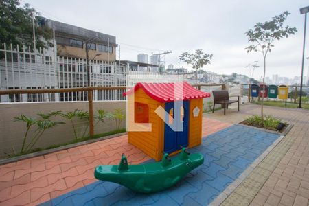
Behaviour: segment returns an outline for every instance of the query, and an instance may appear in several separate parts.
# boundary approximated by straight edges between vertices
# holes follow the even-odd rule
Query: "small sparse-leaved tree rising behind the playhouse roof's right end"
[[[192,54],[183,52],[181,56],[179,56],[179,59],[186,62],[188,65],[192,65],[192,68],[195,69],[195,84],[197,84],[197,71],[203,68],[204,65],[210,64],[212,54],[204,54],[202,49],[196,49],[195,53]]]

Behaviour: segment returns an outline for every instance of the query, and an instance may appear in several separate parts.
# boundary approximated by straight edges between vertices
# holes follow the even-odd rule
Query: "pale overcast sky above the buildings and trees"
[[[290,12],[287,25],[296,27],[294,36],[275,42],[266,59],[266,76],[279,74],[293,78],[301,74],[301,55],[304,36],[304,15],[299,8],[308,6],[306,0],[117,0],[117,1],[41,1],[30,3],[42,16],[89,30],[116,36],[121,46],[122,60],[137,61],[137,54],[172,50],[165,56],[165,65],[178,65],[182,52],[203,49],[214,54],[206,71],[243,73],[244,67],[258,60],[260,68],[254,77],[262,76],[262,54],[244,50],[249,45],[244,35],[255,23],[270,21],[284,11]],[[307,21],[306,57],[309,56],[309,19]],[[117,50],[118,51],[118,50]],[[181,66],[190,65],[181,62]],[[305,60],[307,76],[309,60]]]

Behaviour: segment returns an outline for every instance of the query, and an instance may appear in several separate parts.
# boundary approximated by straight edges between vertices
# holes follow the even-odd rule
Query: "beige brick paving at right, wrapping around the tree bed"
[[[239,113],[231,109],[226,116],[216,111],[207,117],[233,124],[248,115],[259,115],[260,111],[259,105],[247,104]],[[223,205],[309,206],[309,111],[264,106],[264,113],[294,126]]]

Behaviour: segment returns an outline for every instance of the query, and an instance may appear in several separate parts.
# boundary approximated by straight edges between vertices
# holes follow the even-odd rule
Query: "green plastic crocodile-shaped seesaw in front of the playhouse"
[[[141,165],[128,165],[122,154],[119,165],[98,165],[94,175],[96,179],[118,183],[135,192],[150,193],[171,187],[203,162],[203,155],[190,154],[187,148],[182,148],[178,158],[170,159],[164,154],[160,162]]]

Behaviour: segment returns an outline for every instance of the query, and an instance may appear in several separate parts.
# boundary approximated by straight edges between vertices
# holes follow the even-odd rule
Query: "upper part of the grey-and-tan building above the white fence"
[[[54,29],[57,55],[86,59],[86,44],[89,60],[115,62],[116,37],[82,27],[39,17],[41,27]]]

